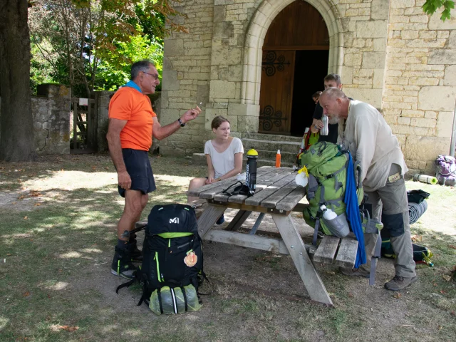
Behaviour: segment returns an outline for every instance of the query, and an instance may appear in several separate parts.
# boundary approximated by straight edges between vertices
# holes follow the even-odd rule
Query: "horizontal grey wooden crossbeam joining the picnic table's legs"
[[[241,247],[261,249],[262,251],[289,254],[288,249],[286,249],[286,246],[281,239],[273,239],[270,237],[259,237],[258,235],[212,229],[204,236],[204,239],[222,242],[224,244],[234,244]]]

